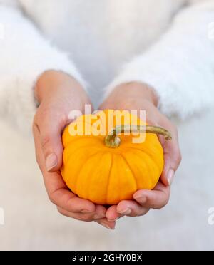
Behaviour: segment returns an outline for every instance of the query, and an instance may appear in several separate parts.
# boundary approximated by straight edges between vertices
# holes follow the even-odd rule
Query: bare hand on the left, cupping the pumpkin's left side
[[[91,105],[88,95],[66,73],[46,71],[36,83],[35,96],[40,104],[33,125],[36,160],[51,202],[67,217],[96,221],[113,229],[115,222],[106,219],[106,208],[76,197],[66,187],[60,173],[63,159],[61,133],[72,121],[68,119],[71,110],[84,113],[85,105]]]

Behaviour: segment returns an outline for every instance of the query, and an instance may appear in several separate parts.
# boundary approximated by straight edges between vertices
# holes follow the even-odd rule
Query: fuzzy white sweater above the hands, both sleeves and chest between
[[[28,128],[34,83],[55,69],[88,83],[96,105],[139,81],[187,118],[214,101],[213,21],[213,0],[0,0],[0,115]]]

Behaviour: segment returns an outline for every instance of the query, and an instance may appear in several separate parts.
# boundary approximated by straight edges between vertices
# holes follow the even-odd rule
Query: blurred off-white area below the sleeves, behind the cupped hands
[[[0,123],[0,250],[214,250],[214,108],[179,125],[183,162],[170,204],[115,231],[62,217],[49,202],[34,142]]]

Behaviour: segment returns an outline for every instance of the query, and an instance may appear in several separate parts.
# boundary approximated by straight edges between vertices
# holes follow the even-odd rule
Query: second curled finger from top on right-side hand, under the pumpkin
[[[147,214],[149,209],[141,207],[140,204],[134,201],[122,201],[117,206],[118,214],[128,217],[140,217]]]

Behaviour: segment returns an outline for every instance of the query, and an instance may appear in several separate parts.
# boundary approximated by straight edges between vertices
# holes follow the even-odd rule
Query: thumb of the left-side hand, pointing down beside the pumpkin
[[[42,113],[41,118],[35,122],[39,130],[39,139],[42,153],[46,161],[46,170],[55,172],[62,165],[63,145],[61,131],[66,125],[66,119],[57,113]]]

